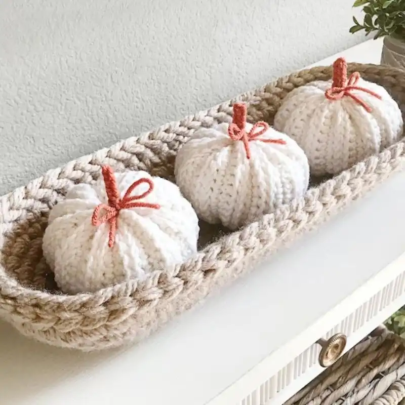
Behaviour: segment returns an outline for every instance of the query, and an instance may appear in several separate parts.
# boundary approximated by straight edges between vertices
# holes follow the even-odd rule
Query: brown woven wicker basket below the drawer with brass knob
[[[396,405],[403,398],[405,341],[380,329],[284,405]]]

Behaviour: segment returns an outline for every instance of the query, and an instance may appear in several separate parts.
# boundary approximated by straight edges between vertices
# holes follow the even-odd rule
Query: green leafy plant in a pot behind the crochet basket
[[[381,64],[405,69],[405,0],[356,0],[353,7],[362,7],[364,19],[353,17],[350,32],[384,37]]]

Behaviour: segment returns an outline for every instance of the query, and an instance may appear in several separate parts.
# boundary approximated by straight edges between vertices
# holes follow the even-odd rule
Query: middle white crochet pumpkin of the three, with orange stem
[[[301,197],[308,160],[295,141],[260,122],[246,123],[234,104],[233,123],[201,128],[179,150],[176,182],[197,214],[235,229]]]

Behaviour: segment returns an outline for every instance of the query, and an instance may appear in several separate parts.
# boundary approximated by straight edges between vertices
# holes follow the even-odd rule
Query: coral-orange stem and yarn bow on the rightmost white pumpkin
[[[340,100],[344,96],[351,97],[356,103],[360,104],[366,109],[367,112],[371,112],[371,107],[367,105],[363,100],[352,93],[353,90],[362,91],[372,95],[373,97],[381,100],[381,96],[369,89],[356,86],[360,79],[360,73],[354,72],[349,78],[347,78],[347,63],[344,58],[338,58],[333,64],[333,84],[332,88],[325,92],[325,96],[329,100]]]

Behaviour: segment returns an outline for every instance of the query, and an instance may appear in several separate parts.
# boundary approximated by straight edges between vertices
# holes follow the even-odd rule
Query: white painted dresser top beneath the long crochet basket
[[[378,63],[381,46],[370,41],[339,56]],[[0,403],[233,405],[405,268],[405,257],[394,262],[405,252],[404,204],[401,172],[203,306],[126,349],[56,349],[0,323]]]

